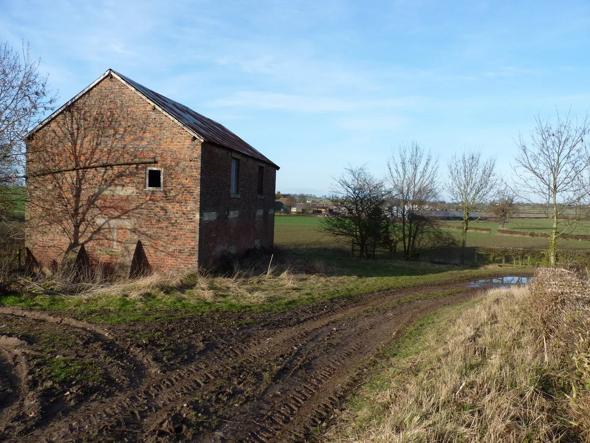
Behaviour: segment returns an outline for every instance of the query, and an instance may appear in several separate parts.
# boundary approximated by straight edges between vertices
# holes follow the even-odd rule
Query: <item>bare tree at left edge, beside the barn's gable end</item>
[[[17,51],[0,43],[0,219],[6,219],[21,194],[14,187],[22,184],[24,136],[53,110],[56,99],[47,76],[39,73],[39,62],[31,57],[28,45]]]

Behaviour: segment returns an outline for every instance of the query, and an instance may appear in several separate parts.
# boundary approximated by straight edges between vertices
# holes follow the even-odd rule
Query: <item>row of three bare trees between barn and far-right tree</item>
[[[464,209],[463,249],[466,245],[470,213],[496,183],[493,159],[481,161],[478,152],[465,151],[453,159],[453,168],[463,168],[456,181],[448,184],[451,195]],[[467,169],[470,170],[467,170]],[[322,220],[320,229],[344,237],[360,258],[385,248],[412,259],[420,250],[454,246],[455,240],[430,217],[440,198],[438,159],[417,142],[402,144],[386,164],[385,177],[376,177],[365,166],[345,168],[336,179],[330,200],[337,214]]]

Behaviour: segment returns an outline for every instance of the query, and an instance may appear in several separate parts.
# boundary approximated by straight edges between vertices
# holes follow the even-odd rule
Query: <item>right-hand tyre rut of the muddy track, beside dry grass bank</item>
[[[363,321],[345,333],[328,324],[323,334],[316,334],[306,344],[314,347],[313,356],[304,360],[304,366],[289,370],[285,377],[278,377],[262,395],[240,411],[232,411],[225,425],[216,435],[205,435],[198,441],[293,441],[304,439],[314,427],[320,425],[329,412],[339,403],[360,370],[359,363],[375,355],[383,345],[408,327],[422,314],[444,304],[463,301],[475,291],[435,301],[414,301],[398,308],[401,312],[383,318]],[[411,312],[412,311],[412,312]],[[375,317],[381,317],[376,315]],[[240,422],[240,418],[244,421]],[[249,420],[249,423],[247,422]],[[239,425],[239,426],[236,426]]]

